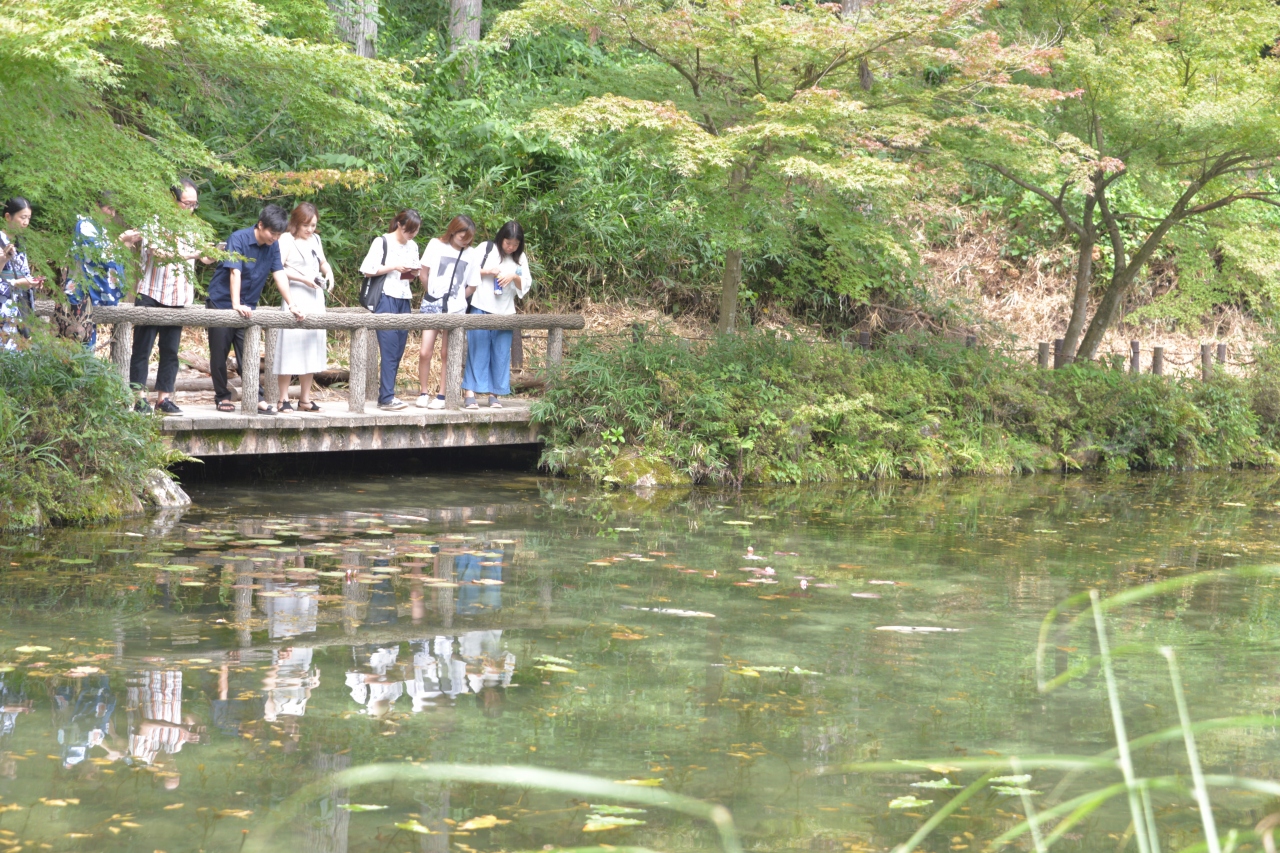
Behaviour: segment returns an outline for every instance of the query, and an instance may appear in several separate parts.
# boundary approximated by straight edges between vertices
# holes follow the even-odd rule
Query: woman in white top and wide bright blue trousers
[[[480,284],[471,296],[472,314],[515,314],[516,297],[524,298],[534,279],[525,257],[525,229],[515,219],[480,246]],[[479,409],[476,394],[489,394],[489,407],[502,409],[498,397],[511,393],[511,329],[467,330],[467,365],[462,374],[466,407]]]

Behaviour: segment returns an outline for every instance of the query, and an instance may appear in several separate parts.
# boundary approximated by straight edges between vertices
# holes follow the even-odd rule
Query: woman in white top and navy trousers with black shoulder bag
[[[392,220],[390,229],[374,241],[365,255],[360,272],[369,277],[387,275],[383,283],[383,297],[374,314],[408,314],[412,309],[410,284],[417,278],[417,243],[413,237],[422,227],[422,218],[416,210],[402,210]],[[399,360],[408,342],[407,329],[388,329],[378,333],[378,350],[381,353],[381,375],[378,386],[378,407],[389,411],[407,409],[396,396],[396,374]]]

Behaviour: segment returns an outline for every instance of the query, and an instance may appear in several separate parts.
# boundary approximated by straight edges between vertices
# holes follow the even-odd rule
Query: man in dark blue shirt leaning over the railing
[[[276,205],[262,207],[257,224],[232,233],[227,241],[227,251],[236,255],[218,265],[214,278],[209,282],[209,300],[205,307],[230,309],[246,319],[253,315],[262,288],[269,278],[282,293],[289,292],[289,279],[284,275],[280,263],[280,247],[276,241],[289,227],[289,215]],[[294,316],[300,316],[293,309]],[[232,392],[227,387],[227,356],[236,350],[236,364],[244,370],[256,370],[257,365],[246,365],[242,350],[244,329],[210,327],[209,329],[209,373],[214,380],[214,405],[218,411],[236,411],[232,405]],[[274,415],[275,410],[262,402],[262,387],[257,389],[260,415]]]

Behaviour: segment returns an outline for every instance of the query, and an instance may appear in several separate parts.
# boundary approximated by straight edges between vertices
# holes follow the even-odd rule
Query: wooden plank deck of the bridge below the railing
[[[317,453],[424,447],[486,447],[532,444],[530,401],[506,398],[502,409],[484,403],[476,411],[430,410],[410,405],[403,411],[355,414],[347,401],[329,402],[315,414],[246,415],[220,412],[212,405],[182,402],[182,414],[164,418],[161,434],[191,456]]]

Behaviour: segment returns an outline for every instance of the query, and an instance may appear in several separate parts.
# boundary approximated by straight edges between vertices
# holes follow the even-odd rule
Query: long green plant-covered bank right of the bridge
[[[618,484],[803,483],[1280,462],[1263,356],[1204,383],[891,338],[584,343],[535,406],[550,470]]]

